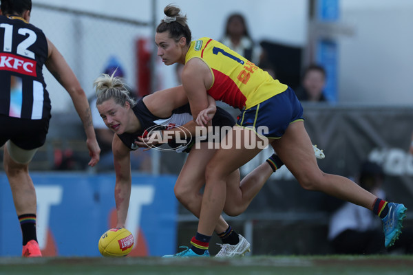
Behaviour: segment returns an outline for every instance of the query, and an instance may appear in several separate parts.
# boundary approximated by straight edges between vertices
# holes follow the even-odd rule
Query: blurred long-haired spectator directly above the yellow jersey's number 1
[[[225,34],[222,37],[222,44],[230,47],[231,50],[244,56],[248,61],[254,64],[260,62],[262,53],[261,46],[253,41],[249,35],[246,22],[242,14],[231,14],[225,26]]]

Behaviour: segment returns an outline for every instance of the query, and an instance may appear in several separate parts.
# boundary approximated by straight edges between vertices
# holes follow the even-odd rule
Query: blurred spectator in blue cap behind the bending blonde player
[[[123,78],[125,74],[120,66],[117,58],[112,56],[109,58],[107,66],[105,68],[104,74],[109,74],[109,76],[118,76]],[[127,87],[129,94],[133,97],[134,92]],[[96,131],[96,139],[100,146],[100,161],[96,165],[98,171],[114,170],[114,155],[112,153],[112,140],[114,138],[114,132],[107,128],[105,122],[100,117],[99,111],[96,108],[96,95],[94,94],[90,101],[90,109],[92,111],[93,125]],[[150,164],[150,153],[149,151],[136,150],[132,151],[131,154],[131,169],[149,172],[151,170]]]

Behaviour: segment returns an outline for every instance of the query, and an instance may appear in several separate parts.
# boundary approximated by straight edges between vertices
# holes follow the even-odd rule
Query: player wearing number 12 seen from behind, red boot
[[[87,148],[99,161],[89,102],[60,52],[39,28],[30,24],[31,0],[1,0],[0,6],[0,147],[4,170],[23,235],[25,257],[39,257],[36,236],[36,192],[28,166],[45,143],[51,103],[43,79],[43,65],[72,97],[83,122]]]

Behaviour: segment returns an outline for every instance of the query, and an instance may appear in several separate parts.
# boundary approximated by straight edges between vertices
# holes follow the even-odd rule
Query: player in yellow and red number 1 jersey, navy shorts
[[[164,12],[166,17],[156,28],[158,56],[165,65],[184,64],[182,85],[194,120],[209,123],[208,94],[242,111],[224,141],[233,146],[219,148],[207,164],[198,232],[191,248],[169,256],[209,256],[209,241],[226,199],[226,177],[260,153],[262,142],[273,146],[304,189],[350,201],[381,217],[385,247],[392,245],[407,209],[377,198],[346,177],[319,169],[295,92],[213,39],[191,41],[187,17],[175,5],[167,5]]]

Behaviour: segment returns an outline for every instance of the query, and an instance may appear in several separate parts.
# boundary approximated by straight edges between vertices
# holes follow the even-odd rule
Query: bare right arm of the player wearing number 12
[[[96,135],[92,123],[92,113],[90,111],[89,102],[83,91],[78,79],[67,65],[65,58],[59,50],[54,47],[53,43],[47,39],[48,57],[45,65],[49,72],[56,78],[57,81],[66,89],[72,98],[74,107],[79,117],[82,120],[83,128],[87,136],[87,148],[91,157],[89,166],[95,166],[99,161],[100,148],[96,140]]]

